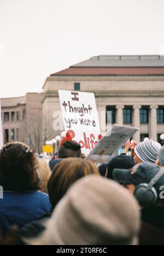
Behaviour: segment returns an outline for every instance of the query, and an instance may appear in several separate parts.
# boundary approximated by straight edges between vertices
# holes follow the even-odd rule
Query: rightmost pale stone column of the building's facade
[[[149,138],[157,141],[157,105],[150,106],[150,134]]]

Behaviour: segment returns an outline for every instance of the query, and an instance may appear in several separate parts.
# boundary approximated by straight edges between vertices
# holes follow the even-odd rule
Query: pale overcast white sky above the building
[[[0,97],[101,54],[164,54],[163,0],[0,0]]]

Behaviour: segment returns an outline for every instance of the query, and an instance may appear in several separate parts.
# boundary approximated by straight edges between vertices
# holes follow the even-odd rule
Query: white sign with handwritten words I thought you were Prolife
[[[65,131],[81,145],[92,150],[100,134],[95,95],[89,92],[58,90]]]

